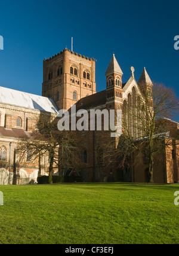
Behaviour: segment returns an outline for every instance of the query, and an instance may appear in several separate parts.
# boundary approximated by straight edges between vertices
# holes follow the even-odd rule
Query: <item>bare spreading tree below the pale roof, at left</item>
[[[49,183],[53,183],[54,169],[63,170],[78,167],[81,164],[78,148],[78,137],[75,132],[59,131],[58,118],[41,115],[37,120],[37,127],[30,137],[21,139],[18,154],[23,159],[30,150],[33,159],[39,158],[39,170],[41,169],[41,157],[49,156]]]

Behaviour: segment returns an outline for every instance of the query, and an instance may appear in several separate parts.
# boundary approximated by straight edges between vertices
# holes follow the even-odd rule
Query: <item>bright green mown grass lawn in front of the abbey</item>
[[[178,243],[178,184],[0,186],[0,243]]]

